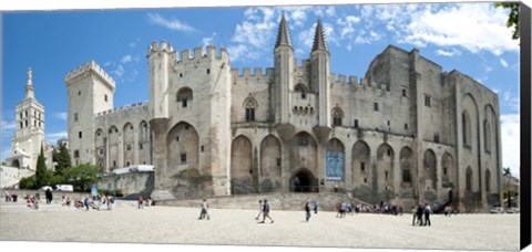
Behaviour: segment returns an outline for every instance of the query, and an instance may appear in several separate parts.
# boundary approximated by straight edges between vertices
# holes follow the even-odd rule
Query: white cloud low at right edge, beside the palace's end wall
[[[519,177],[520,169],[520,117],[519,114],[501,116],[502,166],[510,167]]]

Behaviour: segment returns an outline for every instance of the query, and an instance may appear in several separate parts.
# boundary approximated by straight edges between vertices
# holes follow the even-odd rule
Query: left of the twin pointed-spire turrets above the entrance
[[[277,123],[289,123],[289,91],[294,87],[294,49],[290,34],[286,24],[285,13],[280,17],[279,31],[275,43],[275,120]]]

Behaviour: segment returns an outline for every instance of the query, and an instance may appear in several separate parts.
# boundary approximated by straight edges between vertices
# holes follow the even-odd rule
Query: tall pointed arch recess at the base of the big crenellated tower
[[[166,177],[200,168],[197,130],[186,122],[175,124],[166,135]]]

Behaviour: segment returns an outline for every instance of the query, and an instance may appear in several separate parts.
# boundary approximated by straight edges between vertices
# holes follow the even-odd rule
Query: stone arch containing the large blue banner
[[[327,141],[325,150],[326,159],[326,177],[328,179],[344,180],[345,179],[345,164],[346,164],[346,148],[338,138],[332,138]]]

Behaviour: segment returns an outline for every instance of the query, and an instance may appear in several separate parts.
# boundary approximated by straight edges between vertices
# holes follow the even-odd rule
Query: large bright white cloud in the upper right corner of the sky
[[[519,51],[519,41],[511,39],[505,27],[508,14],[489,3],[427,8],[409,15],[411,20],[399,41],[402,43],[461,46],[472,53],[487,51],[495,55]]]

